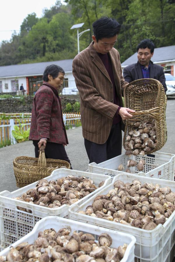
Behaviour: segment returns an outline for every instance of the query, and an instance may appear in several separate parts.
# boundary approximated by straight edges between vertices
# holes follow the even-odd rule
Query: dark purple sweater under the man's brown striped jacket
[[[120,101],[119,101],[119,98],[118,98],[118,95],[117,95],[117,92],[116,92],[116,89],[115,89],[115,82],[114,82],[114,75],[113,75],[113,70],[112,70],[112,64],[111,64],[111,59],[109,57],[108,54],[101,54],[101,53],[97,53],[101,59],[101,61],[103,62],[107,72],[108,72],[108,75],[111,79],[111,82],[113,84],[113,103],[115,105],[120,105]],[[118,107],[117,111],[116,111],[116,114],[113,118],[113,124],[117,124],[121,121],[121,117],[120,115],[118,114],[119,110],[120,110],[120,106]]]

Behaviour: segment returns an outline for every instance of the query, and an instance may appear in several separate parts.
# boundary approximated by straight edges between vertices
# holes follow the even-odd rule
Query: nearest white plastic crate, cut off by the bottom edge
[[[39,231],[43,231],[45,229],[53,228],[56,231],[60,230],[61,228],[67,228],[68,226],[71,227],[71,233],[83,231],[84,233],[90,233],[95,236],[95,241],[98,240],[98,236],[101,233],[107,233],[112,238],[112,245],[111,247],[117,248],[120,245],[127,244],[127,248],[125,251],[125,255],[120,262],[134,262],[134,244],[136,239],[134,236],[131,236],[126,233],[121,233],[114,230],[108,230],[99,226],[93,225],[85,225],[81,222],[75,222],[69,219],[61,218],[61,217],[45,217],[38,221],[34,226],[34,229],[28,233],[26,236],[15,242],[12,246],[16,247],[17,245],[21,244],[22,242],[28,242],[29,244],[34,244],[34,241],[38,237]],[[6,256],[10,250],[10,247],[7,247],[2,252],[0,252],[0,256]]]

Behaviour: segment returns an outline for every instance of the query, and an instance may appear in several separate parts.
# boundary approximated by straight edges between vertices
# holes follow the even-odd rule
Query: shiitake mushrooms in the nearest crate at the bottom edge
[[[70,231],[70,227],[58,232],[55,229],[40,231],[33,245],[23,242],[11,247],[7,256],[0,256],[0,262],[118,262],[125,254],[127,245],[110,248],[112,238],[106,233],[99,235],[95,242],[92,234],[74,231],[70,236]]]

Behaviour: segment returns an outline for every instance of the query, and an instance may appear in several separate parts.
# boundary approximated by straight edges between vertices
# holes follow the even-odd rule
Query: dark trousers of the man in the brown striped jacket
[[[122,130],[121,123],[112,125],[111,132],[104,144],[96,144],[87,139],[85,148],[89,157],[89,163],[99,164],[122,153]]]

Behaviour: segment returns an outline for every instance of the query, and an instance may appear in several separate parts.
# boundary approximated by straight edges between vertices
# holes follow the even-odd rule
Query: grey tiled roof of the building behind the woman
[[[72,71],[73,59],[33,63],[33,64],[22,64],[22,65],[6,65],[0,66],[0,77],[10,76],[28,76],[28,75],[43,75],[43,72],[47,65],[55,64],[61,66],[65,72]]]

